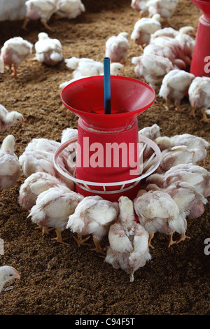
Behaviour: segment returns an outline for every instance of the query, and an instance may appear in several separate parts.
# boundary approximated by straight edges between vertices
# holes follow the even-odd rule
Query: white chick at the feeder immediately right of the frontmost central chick
[[[142,191],[142,193],[134,199],[134,209],[140,224],[149,233],[148,245],[153,248],[151,240],[156,232],[169,235],[168,246],[176,243],[173,241],[174,232],[178,232],[184,239],[187,227],[186,218],[181,215],[172,197],[160,190],[151,190],[146,193]]]

